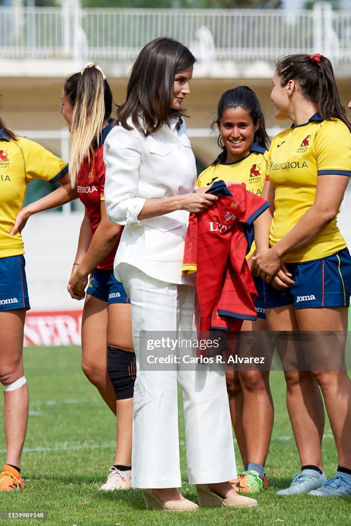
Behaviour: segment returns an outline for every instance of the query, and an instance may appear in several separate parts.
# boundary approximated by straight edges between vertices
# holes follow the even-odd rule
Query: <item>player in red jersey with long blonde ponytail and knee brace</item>
[[[116,458],[101,489],[129,489],[135,354],[129,298],[113,275],[122,228],[108,220],[104,197],[103,144],[113,126],[112,93],[102,70],[89,63],[82,73],[67,78],[61,99],[61,113],[72,135],[71,187],[76,189],[76,196],[85,206],[68,291],[77,300],[85,297],[83,371],[118,417]],[[33,213],[62,205],[67,200],[62,189],[56,190],[24,208],[17,217],[16,228],[21,229]]]

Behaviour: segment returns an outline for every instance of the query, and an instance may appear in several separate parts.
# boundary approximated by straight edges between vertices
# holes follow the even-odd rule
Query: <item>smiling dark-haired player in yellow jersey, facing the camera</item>
[[[268,136],[262,109],[255,93],[247,86],[228,89],[220,98],[217,118],[213,123],[219,130],[218,145],[222,148],[214,163],[200,174],[196,186],[209,187],[222,179],[245,183],[246,189],[262,195],[267,168]],[[227,183],[228,184],[228,183]],[[265,197],[265,196],[263,196]],[[254,275],[258,298],[255,301],[257,320],[244,320],[242,331],[267,331],[263,282],[257,276],[251,257],[247,255]],[[272,343],[267,333],[254,332],[250,347],[242,338],[240,355],[265,356],[266,365],[272,360]],[[269,367],[268,367],[269,368]],[[230,414],[242,456],[244,471],[232,481],[239,493],[254,493],[268,487],[265,461],[273,427],[273,400],[269,388],[269,371],[226,371]]]

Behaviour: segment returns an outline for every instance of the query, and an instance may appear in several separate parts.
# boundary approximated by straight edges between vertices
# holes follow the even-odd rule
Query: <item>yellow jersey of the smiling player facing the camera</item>
[[[246,190],[260,196],[266,178],[267,161],[268,151],[258,144],[253,144],[249,154],[243,159],[235,161],[235,163],[218,163],[206,168],[198,176],[196,186],[199,188],[210,187],[220,179],[223,181],[232,180],[237,183],[245,183]],[[255,250],[255,243],[253,243],[246,259],[250,258]]]

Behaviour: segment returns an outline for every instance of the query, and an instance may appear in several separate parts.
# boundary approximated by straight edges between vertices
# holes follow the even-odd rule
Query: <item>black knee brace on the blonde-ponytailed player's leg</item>
[[[136,378],[135,353],[109,345],[107,369],[115,388],[116,400],[133,398]]]

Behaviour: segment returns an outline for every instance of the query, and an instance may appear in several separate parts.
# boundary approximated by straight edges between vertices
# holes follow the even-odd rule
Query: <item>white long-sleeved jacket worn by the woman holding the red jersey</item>
[[[195,157],[183,123],[145,137],[138,130],[116,126],[104,145],[105,204],[110,221],[125,225],[117,249],[114,274],[128,263],[155,279],[194,284],[182,274],[184,239],[189,214],[185,210],[138,220],[146,199],[163,199],[192,192],[196,183]]]

